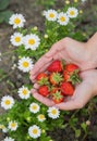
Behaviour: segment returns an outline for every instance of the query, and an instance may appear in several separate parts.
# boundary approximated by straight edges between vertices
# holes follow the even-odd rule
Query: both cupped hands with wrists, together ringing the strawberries
[[[35,84],[32,89],[33,97],[46,104],[53,106],[54,103],[48,98],[41,97],[38,92],[36,76],[44,72],[53,60],[65,60],[66,63],[74,63],[81,69],[83,81],[75,87],[74,94],[64,102],[56,104],[60,110],[82,108],[93,97],[97,94],[97,33],[87,42],[80,42],[69,37],[54,43],[51,49],[43,55],[31,70],[31,79]]]

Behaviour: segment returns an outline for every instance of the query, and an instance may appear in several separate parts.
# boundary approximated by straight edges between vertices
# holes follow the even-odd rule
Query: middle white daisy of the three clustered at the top
[[[69,16],[65,13],[63,13],[63,12],[59,13],[59,15],[58,15],[58,23],[60,25],[68,25]]]

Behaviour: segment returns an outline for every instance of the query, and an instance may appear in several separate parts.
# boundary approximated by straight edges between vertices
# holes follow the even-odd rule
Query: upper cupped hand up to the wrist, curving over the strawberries
[[[54,43],[43,55],[31,70],[31,79],[35,80],[38,73],[44,72],[53,60],[64,60],[66,63],[76,64],[82,70],[93,68],[90,64],[87,43],[73,40],[69,37]]]

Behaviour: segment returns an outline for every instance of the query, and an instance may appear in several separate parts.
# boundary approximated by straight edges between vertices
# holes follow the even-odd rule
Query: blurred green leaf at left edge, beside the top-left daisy
[[[5,22],[5,23],[9,23],[9,18],[11,17],[11,15],[13,14],[12,11],[4,11],[4,12],[0,12],[0,21],[1,23],[2,22]]]

